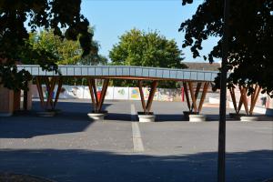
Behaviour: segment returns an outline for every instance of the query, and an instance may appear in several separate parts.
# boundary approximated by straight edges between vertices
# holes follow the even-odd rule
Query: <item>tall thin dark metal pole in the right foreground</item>
[[[220,108],[218,130],[218,170],[217,181],[226,180],[226,98],[227,98],[227,56],[228,56],[228,15],[229,0],[224,0],[224,25],[222,42],[222,66],[220,75]]]

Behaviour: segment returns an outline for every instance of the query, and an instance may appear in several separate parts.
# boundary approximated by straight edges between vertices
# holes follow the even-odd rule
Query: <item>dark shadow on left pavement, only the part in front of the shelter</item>
[[[92,124],[87,116],[86,119],[79,119],[76,116],[20,116],[20,119],[18,117],[0,119],[0,138],[30,138],[81,132]]]

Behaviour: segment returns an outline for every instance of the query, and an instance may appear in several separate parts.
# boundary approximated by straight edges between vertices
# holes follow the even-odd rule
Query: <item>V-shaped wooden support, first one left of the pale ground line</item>
[[[97,96],[96,92],[96,81],[93,78],[89,78],[88,80],[88,86],[89,86],[89,91],[90,91],[90,96],[92,100],[92,104],[94,107],[94,112],[101,112],[105,97],[106,97],[106,92],[107,92],[107,87],[109,83],[109,79],[104,80],[104,84],[101,90],[101,95],[100,98]]]

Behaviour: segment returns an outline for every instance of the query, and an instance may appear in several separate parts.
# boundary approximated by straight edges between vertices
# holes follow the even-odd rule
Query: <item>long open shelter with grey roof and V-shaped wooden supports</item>
[[[45,71],[42,67],[37,65],[20,65],[18,66],[18,69],[25,69],[34,77],[41,106],[45,109],[48,107],[54,109],[56,107],[64,79],[67,77],[86,78],[90,90],[91,101],[96,112],[102,111],[101,109],[104,104],[109,79],[129,79],[137,80],[144,112],[150,112],[151,110],[153,98],[157,90],[157,83],[159,81],[170,80],[183,82],[188,109],[194,109],[195,112],[199,113],[201,112],[206,98],[209,83],[214,81],[218,73],[217,71],[146,66],[58,66],[58,73]],[[96,79],[104,80],[100,97],[96,94]],[[147,103],[142,91],[143,80],[152,81]],[[43,95],[43,82],[45,83],[46,91],[48,93],[46,97]],[[193,86],[194,84],[197,86]],[[54,99],[53,91],[56,86],[57,91]],[[201,99],[197,105],[197,96],[202,86]]]

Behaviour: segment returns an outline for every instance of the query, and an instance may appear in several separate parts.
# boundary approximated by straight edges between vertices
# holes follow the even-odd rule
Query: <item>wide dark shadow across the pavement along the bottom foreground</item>
[[[217,181],[217,152],[185,156],[121,155],[102,151],[2,149],[0,172],[65,181]],[[272,150],[227,154],[227,181],[273,177]]]

